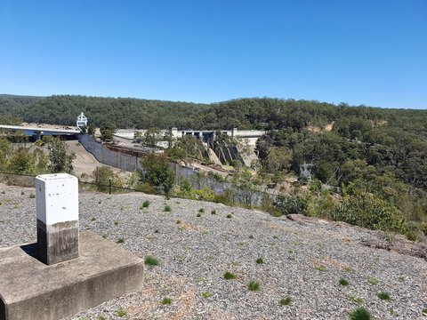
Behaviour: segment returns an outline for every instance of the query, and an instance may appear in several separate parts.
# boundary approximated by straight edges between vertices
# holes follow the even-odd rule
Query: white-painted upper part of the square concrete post
[[[78,180],[68,173],[36,176],[37,220],[46,226],[78,220]]]

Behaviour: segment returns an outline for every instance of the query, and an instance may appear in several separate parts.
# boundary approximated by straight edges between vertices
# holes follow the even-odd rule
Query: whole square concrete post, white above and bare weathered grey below
[[[37,245],[47,265],[78,258],[78,180],[67,173],[36,177]]]

